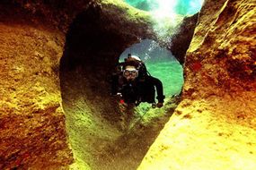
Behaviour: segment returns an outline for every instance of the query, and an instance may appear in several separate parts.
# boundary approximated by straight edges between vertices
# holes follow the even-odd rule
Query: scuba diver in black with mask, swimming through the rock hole
[[[128,54],[125,61],[117,65],[111,80],[111,94],[122,98],[124,103],[138,106],[141,102],[147,102],[153,108],[163,106],[163,84],[146,71],[146,65],[139,57]]]

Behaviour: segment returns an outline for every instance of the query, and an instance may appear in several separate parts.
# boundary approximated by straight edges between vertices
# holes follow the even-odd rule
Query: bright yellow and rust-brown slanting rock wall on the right
[[[254,169],[255,1],[207,0],[185,61],[183,100],[138,169]]]

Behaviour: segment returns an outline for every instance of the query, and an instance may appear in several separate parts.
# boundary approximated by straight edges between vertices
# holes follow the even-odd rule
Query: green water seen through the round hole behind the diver
[[[163,83],[166,97],[179,94],[183,85],[183,68],[171,51],[160,47],[154,40],[144,39],[128,47],[119,57],[123,62],[128,54],[137,55],[145,64],[147,71]]]

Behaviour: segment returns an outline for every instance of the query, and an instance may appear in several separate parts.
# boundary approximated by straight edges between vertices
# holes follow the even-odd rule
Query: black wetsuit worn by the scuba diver
[[[130,63],[121,63],[119,67],[126,65]],[[147,74],[145,64],[140,65],[138,77],[134,81],[127,81],[122,72],[112,74],[111,93],[121,93],[126,103],[155,103],[155,89],[158,102],[163,103],[163,84],[159,79]]]

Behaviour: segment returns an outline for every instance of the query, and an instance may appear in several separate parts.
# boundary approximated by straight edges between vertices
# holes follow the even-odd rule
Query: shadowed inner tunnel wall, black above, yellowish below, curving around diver
[[[78,14],[66,34],[60,61],[73,166],[84,169],[135,169],[178,101],[168,98],[161,109],[140,107],[121,112],[117,99],[110,97],[110,71],[119,63],[119,55],[140,37],[124,36],[123,30],[108,28],[110,22],[97,7]]]

